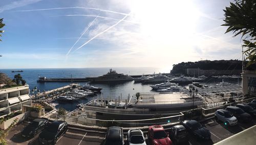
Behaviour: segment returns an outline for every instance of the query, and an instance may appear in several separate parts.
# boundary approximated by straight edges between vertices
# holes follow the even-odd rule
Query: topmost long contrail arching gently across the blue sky
[[[98,8],[86,8],[86,7],[64,7],[64,8],[49,8],[49,9],[34,9],[34,10],[20,10],[20,11],[13,11],[13,12],[33,12],[33,11],[47,11],[47,10],[58,10],[58,9],[90,9],[90,10],[98,10],[98,11],[110,12],[110,13],[121,14],[121,15],[128,15],[128,14],[125,14],[125,13],[119,13],[119,12],[110,11],[110,10],[101,10],[101,9],[98,9]]]

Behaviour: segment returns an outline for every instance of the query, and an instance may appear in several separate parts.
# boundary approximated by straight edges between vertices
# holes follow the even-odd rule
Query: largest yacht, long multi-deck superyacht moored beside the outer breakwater
[[[104,74],[99,77],[88,77],[89,81],[96,82],[96,81],[127,81],[133,80],[133,77],[129,75],[124,75],[122,73],[117,73],[115,70],[110,69],[107,74]]]

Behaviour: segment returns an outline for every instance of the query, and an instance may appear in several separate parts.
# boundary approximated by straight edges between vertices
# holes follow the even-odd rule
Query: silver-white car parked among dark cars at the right
[[[220,120],[225,123],[225,125],[237,125],[238,120],[236,117],[231,115],[229,111],[224,110],[224,109],[218,109],[215,112],[215,119]]]

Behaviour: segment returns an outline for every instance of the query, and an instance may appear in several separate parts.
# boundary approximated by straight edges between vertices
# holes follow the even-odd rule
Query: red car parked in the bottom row
[[[152,141],[152,145],[172,145],[167,133],[161,125],[153,125],[148,128],[148,138]]]

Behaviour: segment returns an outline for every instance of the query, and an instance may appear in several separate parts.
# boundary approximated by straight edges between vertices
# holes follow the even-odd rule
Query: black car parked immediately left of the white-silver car
[[[105,145],[123,145],[123,129],[121,127],[109,127],[106,131]]]

